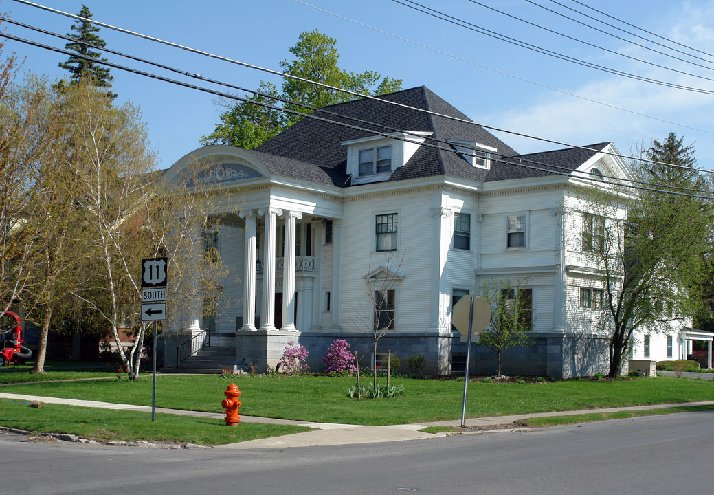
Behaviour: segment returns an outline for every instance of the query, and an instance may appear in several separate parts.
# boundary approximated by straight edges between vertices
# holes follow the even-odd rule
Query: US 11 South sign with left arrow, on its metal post
[[[166,320],[166,258],[141,260],[141,321],[154,321],[154,355],[151,357],[151,422],[156,421],[156,321]],[[151,287],[151,289],[146,289]]]

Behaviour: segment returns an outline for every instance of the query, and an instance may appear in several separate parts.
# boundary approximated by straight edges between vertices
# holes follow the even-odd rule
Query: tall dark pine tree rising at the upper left
[[[82,9],[78,15],[84,17],[84,19],[91,19],[92,17],[91,11],[84,4],[82,4]],[[72,24],[72,29],[77,34],[67,33],[67,36],[76,41],[70,42],[64,47],[68,50],[76,51],[78,55],[70,56],[66,62],[61,62],[59,66],[69,71],[71,84],[76,84],[80,79],[86,77],[93,81],[94,86],[111,89],[111,81],[114,77],[109,74],[109,67],[97,64],[93,60],[106,61],[106,59],[100,59],[101,52],[94,51],[89,46],[104,47],[106,45],[106,41],[96,35],[99,28],[91,24],[89,20],[83,20],[78,21],[77,24]],[[62,83],[59,86],[61,87]],[[106,96],[115,99],[116,93],[107,91]]]

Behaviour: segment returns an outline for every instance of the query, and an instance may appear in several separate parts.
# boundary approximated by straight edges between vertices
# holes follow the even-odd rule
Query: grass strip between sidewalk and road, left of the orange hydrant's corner
[[[116,411],[91,407],[44,404],[39,409],[26,401],[0,399],[0,424],[34,433],[69,433],[85,439],[145,440],[171,444],[221,445],[308,431],[304,426],[238,423],[226,426],[221,419]]]

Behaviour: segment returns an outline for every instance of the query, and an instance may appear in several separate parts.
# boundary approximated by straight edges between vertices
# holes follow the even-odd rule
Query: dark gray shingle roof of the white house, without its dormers
[[[498,156],[518,156],[508,144],[493,136],[483,127],[472,124],[471,119],[468,119],[461,111],[448,104],[426,86],[386,94],[379,98],[385,101],[359,99],[326,106],[315,112],[316,116],[368,129],[367,131],[306,118],[273,139],[266,141],[258,149],[249,152],[261,159],[274,174],[340,187],[344,186],[349,179],[346,174],[347,150],[346,146],[342,146],[340,143],[373,136],[374,134],[370,131],[385,134],[395,131],[431,132],[433,134],[426,142],[441,147],[451,147],[444,141],[476,142],[496,148]],[[414,109],[392,105],[388,101],[411,106]],[[426,114],[415,109],[433,111],[463,119],[463,121]],[[593,146],[601,148],[603,145]],[[583,153],[583,150],[580,149],[565,149],[520,155],[519,157],[523,160],[545,162],[550,166],[565,166],[572,170],[592,154],[592,151]],[[488,171],[471,166],[466,159],[453,151],[421,146],[404,166],[399,167],[392,174],[389,180],[399,181],[448,175],[458,179],[481,182],[546,174],[548,172],[523,169],[496,160],[493,161],[491,170]]]

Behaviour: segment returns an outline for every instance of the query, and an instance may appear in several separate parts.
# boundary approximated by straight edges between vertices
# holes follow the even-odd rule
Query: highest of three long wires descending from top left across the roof
[[[461,118],[456,117],[456,116],[451,116],[451,115],[446,115],[446,114],[440,114],[440,113],[438,113],[438,112],[431,111],[431,110],[418,109],[418,108],[416,108],[416,107],[409,106],[409,105],[406,105],[406,104],[401,104],[401,103],[398,103],[398,102],[396,102],[396,101],[388,101],[388,100],[385,100],[385,99],[381,99],[381,98],[378,98],[377,96],[372,96],[372,95],[370,95],[370,94],[361,94],[361,93],[358,93],[357,91],[351,91],[351,90],[348,90],[348,89],[342,89],[342,88],[338,88],[337,86],[330,86],[329,84],[324,84],[324,83],[317,82],[317,81],[311,81],[310,79],[305,79],[305,78],[302,78],[302,77],[299,77],[299,76],[293,76],[292,74],[286,74],[286,73],[281,72],[281,71],[275,71],[275,70],[273,70],[273,69],[266,69],[266,68],[261,67],[261,66],[256,66],[256,65],[253,65],[253,64],[248,64],[248,63],[246,63],[246,62],[238,61],[238,60],[235,60],[235,59],[228,59],[228,58],[225,57],[225,56],[220,56],[220,55],[216,55],[216,54],[211,54],[211,53],[208,53],[208,52],[206,52],[206,51],[201,51],[201,50],[198,50],[198,49],[191,48],[191,47],[189,47],[189,46],[183,46],[183,45],[181,45],[181,44],[176,44],[176,43],[173,43],[173,42],[171,42],[171,41],[166,41],[166,40],[163,40],[163,39],[155,38],[154,36],[149,36],[149,35],[146,35],[146,34],[136,33],[136,32],[134,32],[134,31],[130,31],[129,29],[124,29],[124,28],[121,28],[121,27],[118,27],[118,26],[112,26],[111,24],[106,24],[106,23],[101,22],[101,21],[95,21],[94,19],[86,19],[85,17],[77,16],[77,15],[75,15],[75,14],[69,14],[68,12],[60,11],[60,10],[58,10],[58,9],[53,9],[53,8],[51,8],[51,7],[47,7],[47,6],[44,6],[44,5],[35,4],[35,3],[31,2],[31,1],[28,1],[28,0],[14,0],[14,1],[16,1],[16,2],[18,2],[18,3],[20,3],[20,4],[25,4],[25,5],[29,5],[29,6],[36,7],[36,8],[38,8],[38,9],[46,10],[46,11],[52,12],[52,13],[54,13],[54,14],[60,14],[60,15],[62,15],[62,16],[66,16],[66,17],[69,17],[69,18],[71,18],[71,19],[76,19],[76,20],[79,20],[79,21],[86,21],[86,22],[89,22],[89,23],[91,23],[91,24],[96,24],[97,26],[106,27],[106,28],[108,28],[108,29],[112,29],[112,30],[114,30],[114,31],[119,31],[119,32],[124,33],[124,34],[130,34],[130,35],[132,35],[132,36],[138,36],[139,38],[147,39],[147,40],[149,40],[149,41],[155,41],[155,42],[157,42],[157,43],[165,44],[165,45],[171,46],[171,47],[173,47],[173,48],[178,48],[178,49],[182,49],[182,50],[185,50],[185,51],[189,51],[189,52],[191,52],[191,53],[200,54],[200,55],[203,55],[203,56],[208,56],[208,57],[210,57],[210,58],[218,59],[218,60],[221,60],[221,61],[227,61],[227,62],[229,62],[229,63],[231,63],[231,64],[236,64],[236,65],[238,65],[238,66],[247,67],[248,69],[255,69],[255,70],[258,70],[258,71],[266,72],[266,73],[268,73],[268,74],[273,74],[273,75],[277,75],[277,76],[282,76],[282,77],[286,77],[286,78],[289,78],[289,79],[295,79],[295,80],[297,80],[297,81],[303,81],[303,82],[307,82],[307,83],[310,83],[310,84],[316,84],[317,86],[321,86],[321,87],[326,88],[326,89],[331,89],[331,90],[333,90],[333,91],[340,91],[340,92],[345,93],[345,94],[350,94],[350,95],[352,95],[352,96],[357,96],[358,98],[372,99],[372,100],[382,101],[382,102],[385,102],[385,101],[386,101],[388,104],[391,104],[391,105],[393,105],[393,106],[398,106],[398,107],[404,108],[404,109],[411,109],[411,110],[415,110],[415,111],[420,111],[420,112],[423,112],[423,113],[428,114],[428,115],[431,115],[431,116],[443,117],[444,119],[449,119],[449,120],[453,120],[453,121],[463,122],[463,123],[466,123],[466,124],[478,125],[478,126],[483,127],[483,129],[491,129],[492,131],[500,131],[500,132],[504,132],[504,133],[506,133],[506,134],[511,134],[511,135],[513,135],[513,136],[519,136],[519,137],[523,137],[523,138],[527,138],[527,139],[535,139],[535,140],[543,141],[543,142],[550,143],[550,144],[557,144],[558,146],[566,146],[566,147],[568,147],[568,148],[584,149],[584,150],[587,150],[587,151],[600,152],[600,153],[603,153],[603,154],[608,154],[608,155],[610,155],[610,156],[618,156],[618,157],[623,158],[623,159],[629,159],[629,160],[635,160],[635,161],[648,161],[648,162],[654,163],[654,164],[660,164],[660,165],[665,165],[665,166],[673,166],[673,167],[675,167],[675,168],[690,169],[690,170],[695,170],[695,171],[699,171],[699,172],[702,172],[702,173],[714,174],[714,171],[710,171],[710,170],[706,170],[706,169],[698,169],[698,168],[695,168],[695,167],[690,167],[690,166],[685,166],[685,165],[668,164],[668,163],[661,162],[661,161],[653,161],[653,160],[642,159],[641,157],[638,157],[638,156],[627,156],[627,155],[623,155],[623,154],[616,154],[616,153],[609,152],[609,151],[601,151],[601,150],[597,150],[597,149],[590,149],[590,148],[587,148],[587,147],[585,147],[585,146],[574,146],[574,145],[572,145],[572,144],[567,144],[567,143],[564,143],[564,142],[562,142],[562,141],[555,141],[555,140],[553,140],[553,139],[545,139],[545,138],[540,138],[540,137],[537,137],[537,136],[531,136],[531,135],[523,134],[523,133],[516,132],[516,131],[509,131],[509,130],[507,130],[507,129],[501,129],[501,128],[496,127],[496,126],[488,126],[487,124],[478,124],[478,123],[476,123],[476,122],[474,122],[474,121],[471,121],[471,120],[468,120],[468,119],[461,119]],[[71,54],[74,55],[74,52],[72,52]],[[92,59],[92,60],[93,60],[93,61],[96,61],[96,59]],[[198,74],[196,74],[196,75],[198,75]],[[251,103],[256,103],[256,102],[251,101]]]

